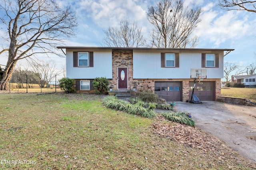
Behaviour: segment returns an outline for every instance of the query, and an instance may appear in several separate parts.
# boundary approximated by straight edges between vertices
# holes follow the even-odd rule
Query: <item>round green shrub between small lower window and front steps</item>
[[[92,85],[95,89],[95,92],[99,92],[100,94],[104,94],[108,91],[109,81],[106,77],[96,77],[93,80]]]

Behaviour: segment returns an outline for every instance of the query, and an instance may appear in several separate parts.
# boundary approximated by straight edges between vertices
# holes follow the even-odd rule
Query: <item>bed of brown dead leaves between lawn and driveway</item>
[[[226,146],[223,141],[211,136],[197,127],[190,127],[179,123],[163,123],[164,118],[159,116],[153,123],[151,131],[154,134],[166,137],[180,145],[196,149],[197,154],[211,158],[212,162],[221,162],[235,167],[234,162],[240,162],[241,157],[234,150]],[[248,163],[252,168],[256,164]]]

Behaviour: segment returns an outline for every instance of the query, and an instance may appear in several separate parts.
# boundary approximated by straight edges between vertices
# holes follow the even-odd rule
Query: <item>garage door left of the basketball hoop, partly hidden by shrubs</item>
[[[182,101],[181,82],[155,82],[155,94],[158,94],[166,102]]]

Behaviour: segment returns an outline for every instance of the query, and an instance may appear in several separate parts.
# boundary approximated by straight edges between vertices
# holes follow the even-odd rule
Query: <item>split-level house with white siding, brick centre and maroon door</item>
[[[77,92],[92,92],[92,81],[106,77],[113,90],[150,89],[166,101],[190,100],[192,69],[207,71],[196,83],[200,100],[216,100],[223,78],[224,51],[234,49],[166,49],[122,47],[58,47],[66,49],[66,76],[76,80]],[[197,81],[198,82],[198,81]],[[167,96],[165,96],[167,95]]]

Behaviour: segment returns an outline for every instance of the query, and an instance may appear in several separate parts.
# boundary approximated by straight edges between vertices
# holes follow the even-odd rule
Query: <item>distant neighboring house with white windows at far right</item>
[[[256,74],[231,76],[231,82],[243,83],[245,87],[256,87]]]

